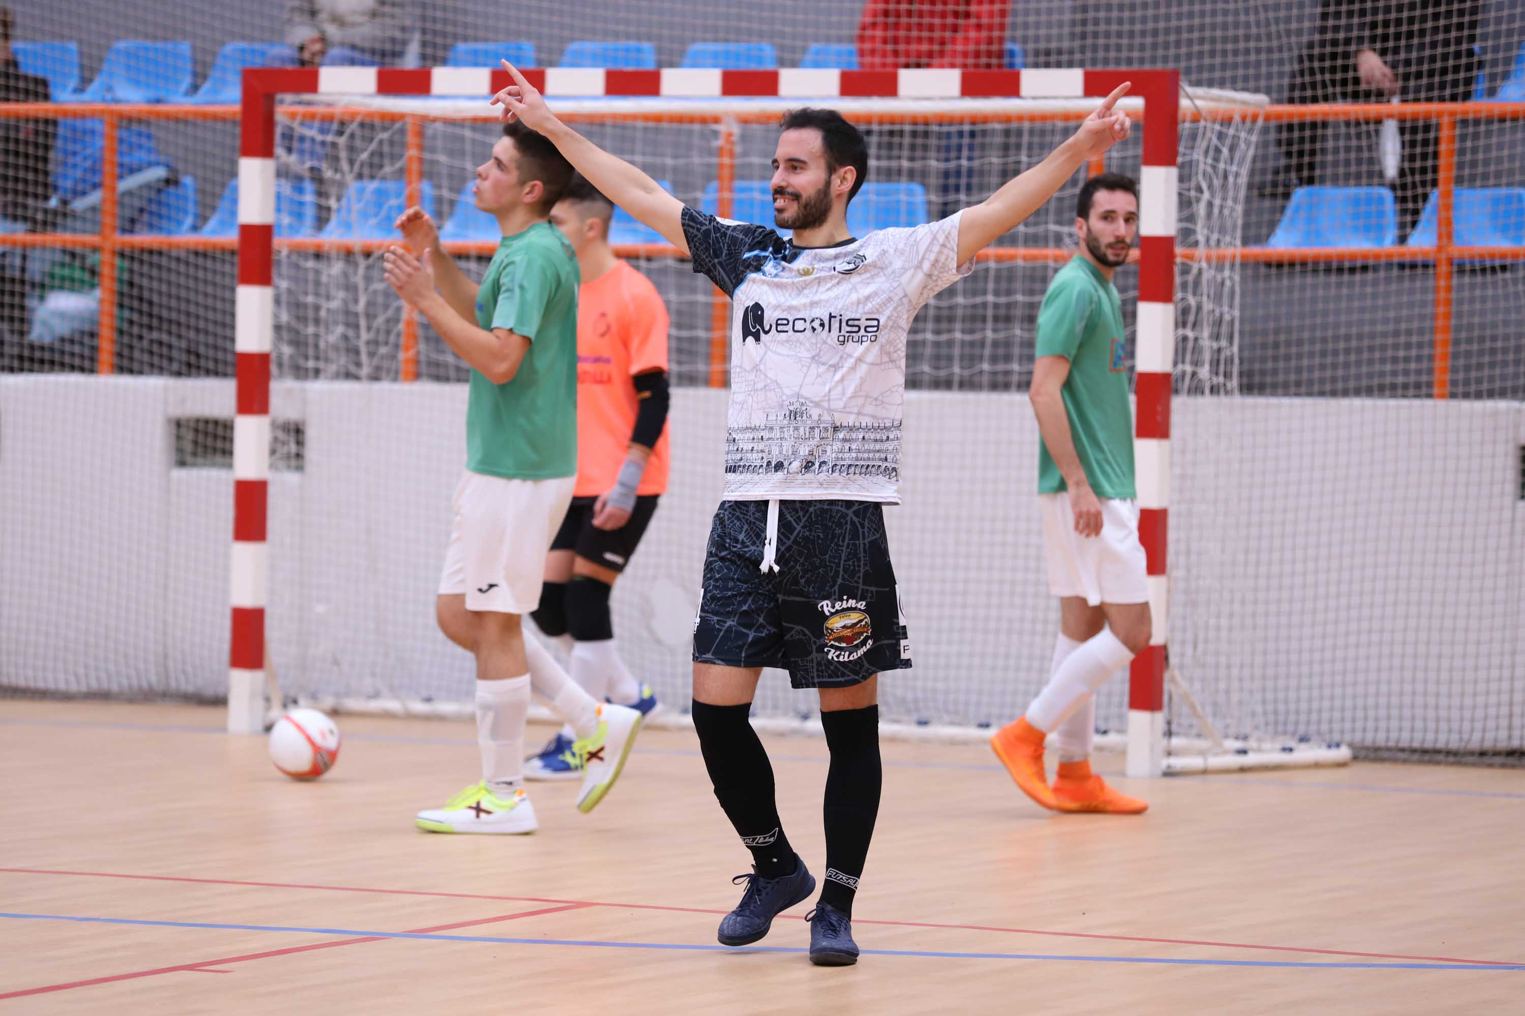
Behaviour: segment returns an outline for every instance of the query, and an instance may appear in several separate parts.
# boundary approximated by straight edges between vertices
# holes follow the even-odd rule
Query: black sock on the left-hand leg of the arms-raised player
[[[773,766],[747,719],[750,711],[750,702],[709,705],[695,701],[694,730],[720,807],[726,809],[726,818],[752,851],[758,874],[778,879],[795,871],[795,848],[778,821]]]

